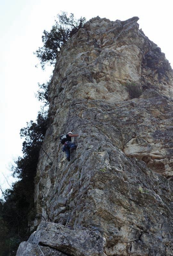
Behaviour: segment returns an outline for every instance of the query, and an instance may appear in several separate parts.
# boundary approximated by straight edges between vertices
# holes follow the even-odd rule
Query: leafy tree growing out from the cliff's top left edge
[[[74,14],[67,16],[66,12],[57,15],[58,20],[52,26],[50,32],[44,30],[42,36],[43,47],[39,47],[34,53],[40,60],[41,66],[44,69],[45,63],[54,64],[56,54],[60,51],[62,45],[82,28],[85,18],[78,20],[74,19]]]

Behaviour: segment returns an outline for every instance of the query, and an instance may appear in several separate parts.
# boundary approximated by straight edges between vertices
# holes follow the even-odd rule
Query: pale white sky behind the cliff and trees
[[[38,82],[49,80],[53,67],[42,71],[33,54],[42,47],[43,30],[50,30],[61,11],[89,20],[100,16],[112,21],[139,17],[139,28],[161,47],[173,67],[171,1],[58,1],[0,0],[0,185],[14,182],[11,165],[22,156],[20,129],[35,121],[40,102],[35,98]],[[8,183],[5,179],[8,180]],[[0,192],[1,196],[1,192]]]

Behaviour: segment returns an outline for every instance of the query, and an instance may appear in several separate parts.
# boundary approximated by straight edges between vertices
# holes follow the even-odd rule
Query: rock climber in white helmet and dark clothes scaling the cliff
[[[75,150],[77,147],[74,143],[71,142],[71,137],[77,137],[79,134],[73,134],[72,132],[68,132],[67,134],[62,134],[60,136],[60,141],[64,145],[62,151],[66,153],[67,160],[70,162],[71,151]]]

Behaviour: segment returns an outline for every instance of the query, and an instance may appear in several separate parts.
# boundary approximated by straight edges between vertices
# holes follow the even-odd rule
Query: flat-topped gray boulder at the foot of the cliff
[[[103,256],[105,241],[99,234],[85,228],[69,228],[42,222],[34,234],[38,243],[74,256]]]

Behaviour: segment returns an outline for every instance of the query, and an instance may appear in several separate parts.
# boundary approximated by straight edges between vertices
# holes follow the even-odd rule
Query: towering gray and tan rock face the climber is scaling
[[[40,152],[35,187],[44,255],[173,255],[173,73],[137,20],[93,18],[57,56],[43,143],[53,163]]]

